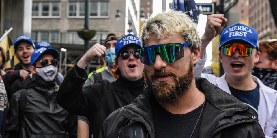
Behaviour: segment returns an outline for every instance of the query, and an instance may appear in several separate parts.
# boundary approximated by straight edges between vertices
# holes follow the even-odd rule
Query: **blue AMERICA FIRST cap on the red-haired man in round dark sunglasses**
[[[141,39],[139,37],[134,36],[133,34],[128,34],[124,37],[121,37],[117,42],[115,46],[115,55],[118,54],[118,52],[127,45],[134,45],[141,47]]]

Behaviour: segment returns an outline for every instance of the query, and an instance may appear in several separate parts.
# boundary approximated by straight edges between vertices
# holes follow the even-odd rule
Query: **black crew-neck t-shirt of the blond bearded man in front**
[[[156,138],[190,137],[195,127],[195,124],[200,116],[203,104],[186,114],[172,114],[165,110],[162,106],[160,106],[160,104],[158,104],[158,102],[155,99],[153,99],[152,101],[153,102],[151,106],[153,111],[153,121]],[[203,112],[205,110],[205,105],[203,107],[203,111],[196,125],[196,128],[193,132],[192,138],[198,137],[199,127],[201,124]]]

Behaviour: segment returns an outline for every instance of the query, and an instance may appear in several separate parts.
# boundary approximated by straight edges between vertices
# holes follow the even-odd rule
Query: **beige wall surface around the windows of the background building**
[[[40,0],[33,0],[33,2],[40,2]],[[50,1],[50,0],[44,0]],[[73,0],[61,0],[60,1],[60,17],[59,18],[32,18],[32,31],[58,31],[61,35],[61,43],[66,42],[66,35],[68,31],[77,31],[84,28],[85,18],[69,17],[68,16],[68,2]],[[79,0],[80,1],[80,0]],[[105,0],[98,0],[105,1]],[[126,0],[110,0],[109,1],[109,16],[103,18],[91,17],[89,19],[89,29],[96,31],[121,32],[125,34],[125,18],[121,13],[121,18],[117,20],[115,18],[116,10],[120,9],[125,12]],[[84,0],[82,0],[84,2]]]

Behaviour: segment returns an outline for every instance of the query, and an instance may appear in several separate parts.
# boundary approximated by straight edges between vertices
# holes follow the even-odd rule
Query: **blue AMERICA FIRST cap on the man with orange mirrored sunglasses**
[[[220,42],[218,47],[219,50],[220,47],[222,47],[224,44],[233,40],[245,41],[253,47],[256,47],[258,51],[260,50],[258,45],[258,33],[254,28],[250,26],[241,23],[236,23],[225,28],[220,36]]]

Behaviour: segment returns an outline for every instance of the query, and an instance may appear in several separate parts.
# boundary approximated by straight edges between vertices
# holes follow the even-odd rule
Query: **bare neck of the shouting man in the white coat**
[[[251,72],[247,76],[235,78],[229,74],[225,74],[225,79],[229,86],[239,90],[253,90],[257,87],[257,83],[253,80]]]

